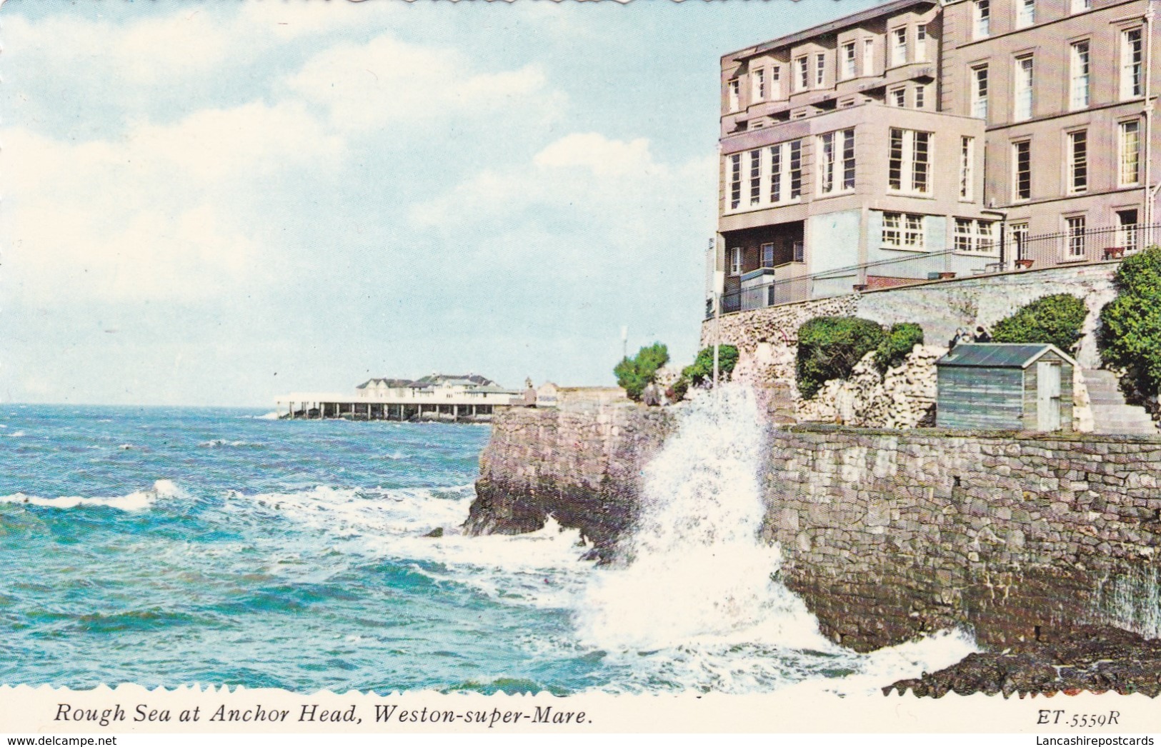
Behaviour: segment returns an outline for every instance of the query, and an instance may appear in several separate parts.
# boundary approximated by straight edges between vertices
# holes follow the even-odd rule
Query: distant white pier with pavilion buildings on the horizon
[[[281,419],[488,422],[498,409],[533,404],[476,374],[432,374],[417,380],[373,378],[354,391],[291,392],[275,398]]]

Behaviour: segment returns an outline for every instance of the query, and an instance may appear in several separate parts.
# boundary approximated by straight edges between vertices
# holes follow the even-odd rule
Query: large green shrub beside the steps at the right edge
[[[1161,390],[1161,248],[1125,258],[1113,284],[1117,297],[1101,310],[1101,357],[1153,397]]]

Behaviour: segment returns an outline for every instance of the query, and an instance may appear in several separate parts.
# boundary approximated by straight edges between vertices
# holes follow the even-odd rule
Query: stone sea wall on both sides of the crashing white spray
[[[467,530],[553,515],[610,559],[675,423],[612,397],[497,416]],[[1161,634],[1161,438],[803,425],[770,431],[760,477],[781,579],[844,645],[952,625],[996,645],[1075,623]]]

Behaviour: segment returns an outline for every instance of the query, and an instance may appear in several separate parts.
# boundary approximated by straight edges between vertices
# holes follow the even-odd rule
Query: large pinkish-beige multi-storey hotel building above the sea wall
[[[895,0],[721,67],[722,311],[1153,240],[1148,0]]]

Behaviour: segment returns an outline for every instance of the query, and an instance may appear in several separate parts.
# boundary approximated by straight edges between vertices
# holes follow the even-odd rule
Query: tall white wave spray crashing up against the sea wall
[[[582,638],[608,648],[712,640],[834,648],[774,574],[762,542],[764,426],[753,393],[726,384],[683,408],[646,467],[628,567],[599,574],[578,612]]]

